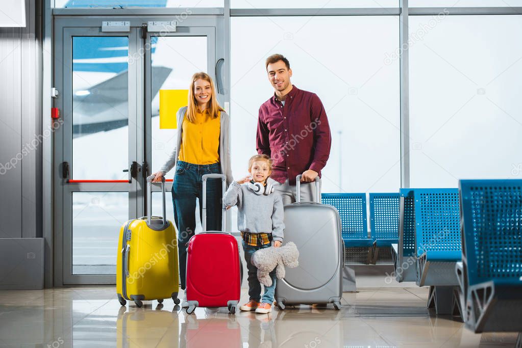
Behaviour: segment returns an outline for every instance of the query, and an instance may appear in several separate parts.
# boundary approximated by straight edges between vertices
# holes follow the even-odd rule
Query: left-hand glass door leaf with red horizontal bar
[[[62,284],[110,284],[118,231],[139,211],[141,69],[139,61],[128,58],[137,55],[138,29],[64,27],[59,34],[55,261],[61,259],[56,273]]]

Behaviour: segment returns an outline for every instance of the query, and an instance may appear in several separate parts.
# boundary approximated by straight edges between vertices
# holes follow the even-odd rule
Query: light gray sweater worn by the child
[[[272,233],[272,240],[283,241],[283,201],[277,192],[257,195],[247,184],[232,182],[223,197],[226,206],[238,206],[238,228],[242,232]]]

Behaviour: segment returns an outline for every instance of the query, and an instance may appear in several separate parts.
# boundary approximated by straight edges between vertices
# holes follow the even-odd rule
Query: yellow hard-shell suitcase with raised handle
[[[163,217],[151,216],[152,189],[147,178],[147,216],[128,220],[120,229],[116,257],[116,291],[122,306],[134,301],[169,297],[179,304],[177,239],[174,224],[165,218],[165,179],[161,182]]]

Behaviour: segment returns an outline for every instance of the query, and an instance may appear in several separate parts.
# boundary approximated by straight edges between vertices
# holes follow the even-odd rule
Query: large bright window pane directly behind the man
[[[400,187],[399,61],[396,16],[234,17],[231,117],[234,177],[256,153],[259,106],[274,94],[265,59],[290,60],[292,83],[322,100],[332,133],[323,192]]]

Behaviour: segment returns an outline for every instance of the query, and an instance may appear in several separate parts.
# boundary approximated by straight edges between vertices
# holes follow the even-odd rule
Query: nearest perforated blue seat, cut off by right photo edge
[[[460,180],[466,326],[522,331],[522,180]]]

